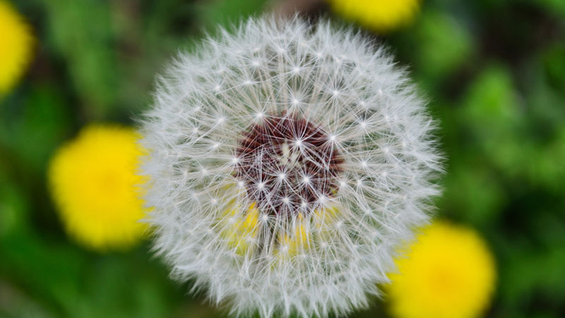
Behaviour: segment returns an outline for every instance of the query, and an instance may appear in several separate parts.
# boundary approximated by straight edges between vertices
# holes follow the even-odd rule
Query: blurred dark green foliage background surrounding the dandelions
[[[284,2],[14,1],[38,40],[0,101],[0,317],[223,317],[169,281],[147,241],[111,254],[71,242],[45,169],[81,126],[134,124],[179,49]],[[301,6],[343,23],[323,3]],[[477,229],[496,256],[485,316],[565,317],[565,1],[424,1],[410,27],[377,38],[441,122],[439,216]],[[383,306],[353,316],[386,317]]]

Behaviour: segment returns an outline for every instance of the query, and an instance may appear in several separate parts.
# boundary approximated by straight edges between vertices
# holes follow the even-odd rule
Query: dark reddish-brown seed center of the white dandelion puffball
[[[261,211],[308,213],[330,199],[343,159],[320,126],[293,114],[263,116],[242,133],[236,177]]]

